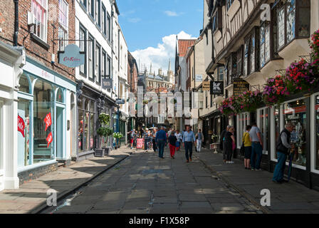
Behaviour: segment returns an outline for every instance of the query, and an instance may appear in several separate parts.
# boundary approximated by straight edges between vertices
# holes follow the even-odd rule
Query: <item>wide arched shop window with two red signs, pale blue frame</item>
[[[33,163],[54,158],[53,110],[53,88],[38,79],[33,90]]]

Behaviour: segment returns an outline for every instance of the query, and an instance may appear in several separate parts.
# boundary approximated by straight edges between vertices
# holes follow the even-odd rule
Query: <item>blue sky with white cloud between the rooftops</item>
[[[117,0],[128,50],[137,63],[174,71],[176,35],[197,38],[203,24],[203,0]],[[140,70],[140,68],[139,68]]]

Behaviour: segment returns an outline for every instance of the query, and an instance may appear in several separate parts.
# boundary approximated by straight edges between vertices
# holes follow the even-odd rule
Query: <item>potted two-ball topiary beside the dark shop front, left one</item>
[[[108,136],[112,135],[113,129],[107,127],[110,123],[110,115],[101,113],[98,117],[98,120],[100,122],[101,127],[98,128],[96,133],[98,133],[98,135],[102,139],[101,141],[103,141],[103,137],[105,138],[105,141],[102,145],[102,148],[95,149],[95,157],[103,157],[105,154],[108,154]]]

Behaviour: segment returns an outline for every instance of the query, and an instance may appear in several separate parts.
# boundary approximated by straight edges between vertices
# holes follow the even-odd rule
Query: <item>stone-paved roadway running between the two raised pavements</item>
[[[182,150],[173,160],[167,147],[164,160],[157,152],[132,153],[59,204],[43,213],[262,213],[195,156],[186,163]]]

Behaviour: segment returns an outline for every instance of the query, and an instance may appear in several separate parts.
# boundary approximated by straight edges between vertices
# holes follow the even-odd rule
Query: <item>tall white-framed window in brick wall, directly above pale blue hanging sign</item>
[[[68,3],[66,0],[58,1],[58,50],[64,51],[68,45]]]

